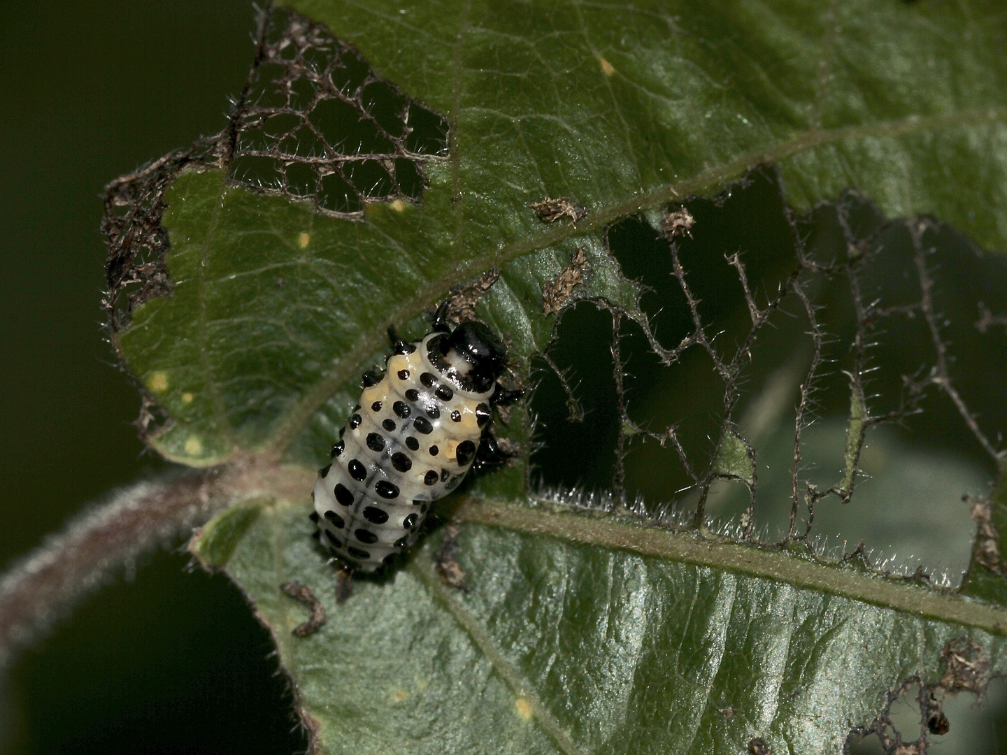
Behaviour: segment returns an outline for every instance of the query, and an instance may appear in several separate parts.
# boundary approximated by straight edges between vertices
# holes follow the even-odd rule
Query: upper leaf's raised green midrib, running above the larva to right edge
[[[926,131],[964,128],[971,125],[1002,123],[1004,121],[1007,121],[1007,111],[1000,109],[972,109],[940,116],[909,116],[908,118],[895,121],[880,121],[861,126],[809,130],[774,147],[749,152],[736,160],[707,168],[692,178],[679,183],[666,184],[651,191],[633,194],[624,201],[601,207],[591,212],[579,223],[555,225],[540,234],[507,244],[489,254],[453,267],[446,275],[435,280],[429,286],[422,289],[415,297],[406,300],[400,307],[392,311],[388,324],[405,322],[417,312],[432,307],[438,298],[442,297],[444,292],[452,286],[465,283],[492,266],[501,266],[517,257],[552,247],[572,237],[601,231],[617,220],[646,209],[655,209],[673,199],[696,194],[710,186],[724,184],[729,180],[739,177],[746,170],[762,163],[784,160],[802,152],[827,144],[835,144],[845,139],[893,138]],[[454,156],[455,152],[456,150],[452,150],[452,166],[457,162]],[[456,168],[452,167],[452,172]],[[454,176],[452,176],[452,188],[458,193],[457,189],[459,187],[455,184],[456,181]],[[457,202],[459,206],[455,209],[459,218],[461,218],[462,213],[461,203],[460,201]],[[359,364],[369,354],[381,348],[384,341],[385,334],[383,331],[363,335],[357,340],[356,345],[342,355],[338,366],[316,383],[303,396],[294,409],[280,423],[273,439],[266,444],[262,451],[274,460],[282,457],[283,453],[297,438],[301,430],[304,429],[314,413],[329,398],[345,387],[345,384],[359,368]]]

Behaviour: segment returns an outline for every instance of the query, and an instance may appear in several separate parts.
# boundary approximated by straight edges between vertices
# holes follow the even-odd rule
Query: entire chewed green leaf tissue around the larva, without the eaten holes
[[[1001,608],[826,562],[794,539],[775,550],[706,531],[699,539],[672,532],[667,518],[641,515],[639,526],[530,493],[534,438],[521,410],[495,425],[518,449],[512,466],[442,511],[467,522],[456,558],[468,592],[438,575],[435,562],[452,550],[439,531],[407,567],[356,580],[336,604],[334,571],[310,538],[304,473],[328,458],[359,373],[387,355],[388,326],[421,335],[423,313],[452,292],[508,340],[515,385],[533,386],[533,358],[564,308],[584,299],[613,312],[616,331],[634,323],[674,362],[680,354],[654,336],[642,289],[621,272],[608,230],[642,216],[674,242],[679,231],[665,220],[679,197],[714,195],[765,162],[798,210],[852,187],[888,217],[930,213],[1007,247],[1007,16],[972,20],[997,5],[289,6],[352,45],[371,66],[361,82],[394,85],[386,96],[409,102],[400,116],[443,119],[446,152],[402,151],[400,137],[369,146],[385,178],[398,181],[408,163],[422,192],[354,185],[359,206],[333,209],[317,186],[349,170],[352,147],[326,143],[338,157],[319,168],[317,154],[283,146],[297,141],[292,132],[266,138],[278,116],[239,106],[233,132],[165,174],[154,230],[168,243],[155,262],[170,291],[131,299],[132,319],[114,339],[161,413],[150,425],[154,448],[193,466],[264,464],[276,475],[275,490],[257,489],[259,503],[221,514],[191,548],[225,569],[272,630],[319,752],[738,752],[761,737],[772,752],[838,753],[852,730],[883,723],[889,694],[907,680],[946,684],[956,643],[979,648],[970,662],[983,678],[1007,671]],[[317,74],[318,58],[338,45],[295,21],[294,42],[281,49]],[[308,52],[311,60],[298,57]],[[257,68],[250,82],[263,87],[264,77]],[[282,88],[291,83],[277,81],[289,105],[293,90]],[[372,112],[352,97],[361,123],[385,117],[377,100]],[[397,127],[400,142],[412,123]],[[243,141],[263,134],[265,146]],[[256,187],[229,156],[256,149],[278,182]],[[295,190],[291,176],[305,165],[319,172]],[[348,184],[364,180],[347,175]],[[533,209],[547,198],[567,202],[569,216]],[[865,249],[844,250],[850,266]],[[744,316],[757,322],[747,283],[745,295]],[[718,345],[686,336],[683,351]],[[714,359],[731,401],[709,469],[754,495],[754,451],[727,427],[740,373],[732,365],[742,357],[751,351],[731,365]],[[620,387],[623,367],[613,370]],[[619,444],[679,442],[674,426],[658,433],[629,422],[624,398]],[[859,384],[846,405],[837,490],[850,493],[877,417]],[[290,475],[303,496],[281,492]],[[795,491],[795,512],[798,502]],[[996,505],[999,525],[1003,501]],[[973,575],[966,594],[999,600],[1002,575],[982,580]],[[304,638],[291,634],[304,608],[279,588],[291,581],[328,615]]]

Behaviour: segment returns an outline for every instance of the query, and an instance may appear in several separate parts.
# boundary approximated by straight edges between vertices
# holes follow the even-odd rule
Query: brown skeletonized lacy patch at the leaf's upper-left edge
[[[447,139],[442,117],[379,78],[325,26],[293,11],[264,11],[255,62],[227,128],[106,187],[105,307],[113,329],[125,328],[139,304],[171,293],[164,192],[186,167],[223,168],[235,184],[363,220],[368,202],[419,198],[424,166],[446,159]]]

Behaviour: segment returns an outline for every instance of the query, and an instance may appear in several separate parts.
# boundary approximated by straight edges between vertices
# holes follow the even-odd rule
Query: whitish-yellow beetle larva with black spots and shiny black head
[[[365,375],[359,406],[314,487],[321,543],[364,573],[412,546],[431,502],[468,472],[503,360],[502,344],[479,323],[396,351],[383,378]]]

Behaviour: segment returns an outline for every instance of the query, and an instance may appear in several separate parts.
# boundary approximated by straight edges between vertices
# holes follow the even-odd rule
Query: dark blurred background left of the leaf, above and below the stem
[[[254,29],[248,0],[4,7],[0,567],[164,466],[102,330],[102,187],[225,125]],[[187,563],[149,558],[22,655],[0,687],[0,752],[303,751],[265,632]]]

